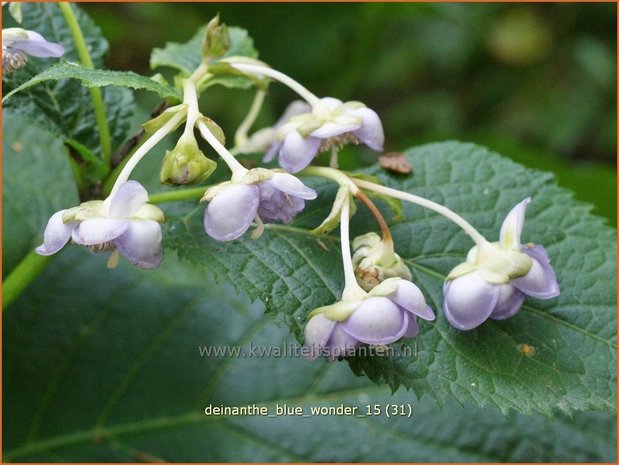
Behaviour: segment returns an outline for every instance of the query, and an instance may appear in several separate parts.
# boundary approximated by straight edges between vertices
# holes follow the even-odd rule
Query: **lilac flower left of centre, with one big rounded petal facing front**
[[[204,212],[204,229],[218,241],[241,237],[254,219],[289,223],[316,191],[287,173],[251,184],[232,183],[219,189]]]

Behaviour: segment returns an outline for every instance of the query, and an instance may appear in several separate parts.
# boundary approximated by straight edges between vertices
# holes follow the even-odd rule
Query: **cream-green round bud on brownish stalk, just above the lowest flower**
[[[378,234],[370,232],[356,237],[352,247],[355,276],[365,291],[389,278],[411,280],[411,272],[393,251],[393,244],[385,243]]]

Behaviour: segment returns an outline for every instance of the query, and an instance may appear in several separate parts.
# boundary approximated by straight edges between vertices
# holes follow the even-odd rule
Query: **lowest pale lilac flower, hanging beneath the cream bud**
[[[434,320],[423,294],[400,278],[383,281],[359,301],[340,301],[313,312],[305,327],[308,358],[352,355],[359,343],[386,345],[419,332],[417,317]]]

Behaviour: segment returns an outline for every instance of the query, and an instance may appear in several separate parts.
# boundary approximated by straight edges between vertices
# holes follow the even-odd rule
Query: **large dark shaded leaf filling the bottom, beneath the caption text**
[[[205,291],[205,286],[208,292]],[[3,454],[19,462],[614,461],[603,413],[504,417],[372,385],[344,363],[252,357],[293,347],[200,269],[167,254],[144,272],[63,252],[4,315]],[[200,347],[247,356],[200,356]],[[301,407],[299,416],[207,416],[204,408]],[[311,415],[357,407],[358,416]],[[380,416],[366,416],[378,405]],[[388,405],[411,416],[387,417]]]

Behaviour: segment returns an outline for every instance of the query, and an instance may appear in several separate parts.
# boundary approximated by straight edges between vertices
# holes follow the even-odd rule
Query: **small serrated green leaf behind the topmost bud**
[[[202,57],[200,56],[200,48],[206,26],[200,28],[198,32],[184,44],[168,42],[163,48],[155,48],[150,56],[150,66],[152,69],[160,66],[170,67],[180,71],[183,75],[190,75],[195,69],[200,66]],[[239,27],[228,27],[230,36],[230,48],[213,63],[230,56],[247,56],[257,58],[258,52],[254,48],[254,42],[245,29]],[[211,85],[221,84],[230,88],[247,89],[251,87],[252,80],[241,76],[216,76],[209,79],[206,87]]]

